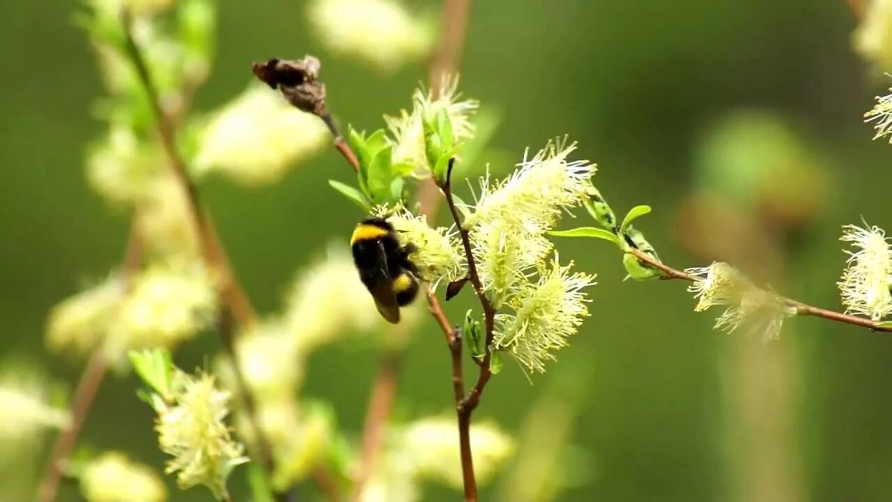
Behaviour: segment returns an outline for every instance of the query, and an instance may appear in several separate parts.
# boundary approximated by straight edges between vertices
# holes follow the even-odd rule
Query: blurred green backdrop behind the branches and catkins
[[[252,61],[303,54],[322,59],[329,103],[345,124],[377,128],[382,113],[409,106],[423,65],[383,76],[334,58],[310,36],[305,7],[221,2],[217,63],[196,108],[243,90]],[[103,133],[90,116],[102,85],[74,8],[0,5],[0,356],[34,361],[72,387],[80,368],[45,352],[45,314],[118,262],[128,228],[83,176],[85,146]],[[615,209],[654,207],[636,224],[667,263],[733,259],[792,297],[839,308],[840,226],[863,217],[892,228],[892,149],[871,142],[861,119],[887,84],[853,53],[855,24],[842,0],[472,2],[462,89],[502,110],[494,143],[518,161],[548,138],[578,140]],[[760,128],[778,123],[796,146],[764,148],[796,150],[787,171],[760,151],[778,136]],[[755,188],[733,181],[739,170],[752,171],[741,178],[756,177]],[[360,214],[327,188],[329,178],[351,181],[334,149],[271,187],[202,185],[261,311],[280,305],[293,273],[329,240],[346,246]],[[572,388],[577,448],[560,470],[574,483],[560,500],[888,499],[888,335],[794,319],[780,341],[729,336],[711,328],[718,312],[692,312],[683,284],[624,282],[608,245],[566,240],[558,249],[599,274],[592,316],[532,385],[508,364],[475,417],[516,432],[552,384]],[[447,305],[455,319],[471,305],[462,300]],[[202,337],[178,363],[202,365],[218,350]],[[306,393],[330,400],[343,428],[359,431],[376,361],[368,350],[326,349],[311,362]],[[449,374],[442,335],[425,322],[409,347],[397,416],[448,410]],[[135,387],[133,376],[106,382],[83,441],[160,466],[153,416]],[[498,481],[483,499],[497,491]],[[172,494],[208,498],[199,489]],[[78,500],[77,490],[66,486],[59,499]]]

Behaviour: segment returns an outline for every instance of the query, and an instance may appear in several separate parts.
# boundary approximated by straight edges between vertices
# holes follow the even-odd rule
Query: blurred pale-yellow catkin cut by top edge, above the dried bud
[[[396,0],[314,0],[309,18],[319,40],[338,54],[393,71],[431,50],[433,33]]]

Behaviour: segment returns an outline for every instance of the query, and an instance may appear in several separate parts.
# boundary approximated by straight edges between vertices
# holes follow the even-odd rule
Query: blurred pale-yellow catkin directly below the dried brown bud
[[[271,183],[329,141],[318,117],[252,84],[211,117],[199,139],[194,170],[199,175],[220,172],[244,185]]]

